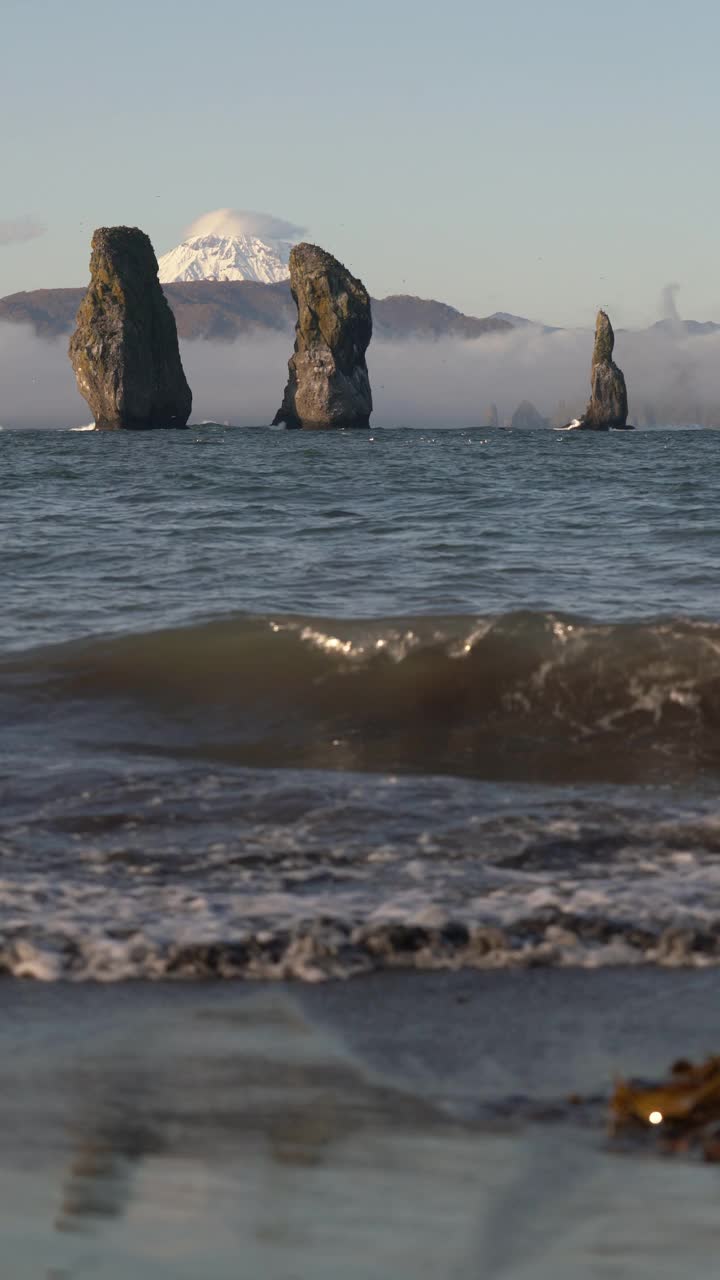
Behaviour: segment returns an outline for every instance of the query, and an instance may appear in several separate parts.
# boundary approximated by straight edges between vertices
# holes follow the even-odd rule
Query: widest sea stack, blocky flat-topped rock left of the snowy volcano
[[[137,227],[100,227],[70,338],[78,390],[104,429],[184,426],[192,393],[158,259]]]

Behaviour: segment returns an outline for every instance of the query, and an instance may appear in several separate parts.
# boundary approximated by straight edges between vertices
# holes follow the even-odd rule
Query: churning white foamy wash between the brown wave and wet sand
[[[397,968],[720,964],[710,810],[569,801],[547,813],[523,788],[488,809],[470,783],[391,776],[246,785],[252,819],[200,851],[193,840],[183,852],[178,813],[191,795],[179,780],[164,796],[167,826],[154,788],[151,824],[133,788],[132,822],[106,831],[111,788],[70,796],[88,805],[91,835],[63,865],[23,869],[9,838],[0,969],[45,982],[318,982]],[[227,787],[204,777],[192,813],[223,813]],[[63,797],[32,826],[41,836],[67,817]]]

